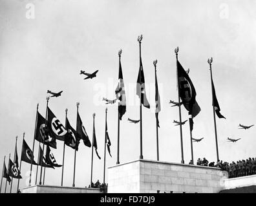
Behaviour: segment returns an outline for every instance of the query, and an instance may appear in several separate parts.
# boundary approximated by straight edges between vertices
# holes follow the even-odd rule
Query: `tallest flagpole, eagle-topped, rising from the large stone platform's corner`
[[[142,35],[138,37],[138,42],[140,45],[140,59],[142,58]],[[141,65],[140,65],[141,66]],[[143,159],[142,154],[142,77],[141,77],[141,68],[140,68],[140,159]]]

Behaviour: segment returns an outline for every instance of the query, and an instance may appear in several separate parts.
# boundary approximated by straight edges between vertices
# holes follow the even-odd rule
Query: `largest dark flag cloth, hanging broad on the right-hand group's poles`
[[[196,117],[198,113],[201,111],[200,107],[197,104],[196,96],[197,93],[195,91],[195,87],[189,75],[187,75],[186,71],[177,60],[177,70],[178,70],[178,89],[180,93],[180,98],[182,99],[182,103],[184,107],[189,111],[189,115],[192,117]]]

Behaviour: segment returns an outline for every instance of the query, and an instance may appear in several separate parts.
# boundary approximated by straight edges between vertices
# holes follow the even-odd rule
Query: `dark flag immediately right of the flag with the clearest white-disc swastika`
[[[68,145],[72,149],[76,149],[76,151],[78,151],[80,138],[78,137],[76,130],[74,130],[73,127],[70,126],[68,118],[66,118],[66,129],[67,133],[65,135],[65,145]]]

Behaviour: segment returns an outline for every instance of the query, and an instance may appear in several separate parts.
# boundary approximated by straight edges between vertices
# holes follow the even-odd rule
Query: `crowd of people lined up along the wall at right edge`
[[[227,171],[229,178],[256,174],[256,158],[248,158],[237,162],[233,161],[230,164],[228,162],[222,162],[222,160],[218,160],[216,164],[215,162],[208,163],[209,162],[206,158],[203,158],[202,160],[198,158],[197,160],[197,165],[219,167],[223,171]],[[189,164],[193,164],[193,162],[190,161]]]

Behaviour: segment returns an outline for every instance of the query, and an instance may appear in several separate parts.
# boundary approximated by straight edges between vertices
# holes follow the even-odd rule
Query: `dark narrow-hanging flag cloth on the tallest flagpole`
[[[147,100],[146,93],[145,93],[145,78],[144,78],[144,71],[143,71],[141,57],[140,57],[140,68],[139,68],[139,73],[137,78],[136,94],[138,95],[139,98],[142,99],[143,106],[145,108],[150,108],[149,102]]]

